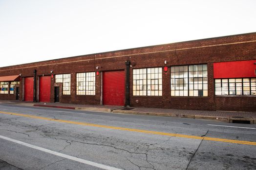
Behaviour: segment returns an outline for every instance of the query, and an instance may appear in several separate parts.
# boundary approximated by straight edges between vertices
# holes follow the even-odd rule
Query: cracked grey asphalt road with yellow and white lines
[[[256,125],[0,104],[0,170],[102,169],[255,170]]]

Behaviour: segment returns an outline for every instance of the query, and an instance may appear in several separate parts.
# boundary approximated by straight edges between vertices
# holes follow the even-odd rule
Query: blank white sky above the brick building
[[[0,67],[256,32],[256,0],[0,0]]]

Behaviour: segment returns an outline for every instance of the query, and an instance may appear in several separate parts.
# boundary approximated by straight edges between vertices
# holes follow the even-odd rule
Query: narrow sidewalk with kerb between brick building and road
[[[43,102],[20,102],[0,100],[0,103],[15,104],[24,106],[53,107],[63,109],[80,109],[93,112],[111,112],[136,115],[166,116],[191,119],[211,119],[225,122],[247,121],[256,124],[256,112],[229,112],[229,111],[203,111],[203,110],[181,110],[181,109],[161,109],[143,107],[122,107],[111,105],[82,105],[68,103],[43,103]],[[246,122],[244,122],[246,123]]]

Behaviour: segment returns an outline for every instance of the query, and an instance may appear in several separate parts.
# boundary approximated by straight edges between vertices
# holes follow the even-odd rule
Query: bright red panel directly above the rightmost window
[[[213,63],[213,77],[214,79],[256,77],[254,63],[256,60]]]

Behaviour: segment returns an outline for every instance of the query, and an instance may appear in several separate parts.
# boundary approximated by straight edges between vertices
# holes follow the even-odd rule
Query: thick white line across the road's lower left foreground
[[[9,140],[11,142],[21,144],[21,145],[29,147],[29,148],[33,148],[33,149],[36,149],[36,150],[39,150],[39,151],[43,151],[45,153],[51,153],[51,154],[54,154],[54,155],[57,155],[57,156],[60,156],[60,157],[66,158],[66,159],[70,159],[70,160],[73,160],[73,161],[84,163],[84,164],[87,164],[87,165],[90,165],[90,166],[93,166],[93,167],[98,167],[98,168],[101,168],[101,169],[104,169],[104,170],[121,170],[121,169],[118,169],[118,168],[109,167],[107,165],[98,164],[96,162],[87,161],[85,159],[80,159],[80,158],[70,156],[70,155],[67,155],[67,154],[51,151],[51,150],[48,150],[48,149],[45,149],[45,148],[41,148],[39,146],[35,146],[35,145],[31,145],[31,144],[28,144],[28,143],[25,143],[25,142],[21,142],[19,140],[15,140],[15,139],[12,139],[12,138],[9,138],[9,137],[5,137],[5,136],[0,135],[0,138],[5,139],[5,140]]]

